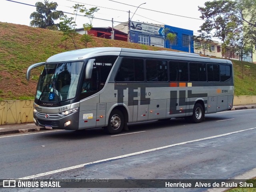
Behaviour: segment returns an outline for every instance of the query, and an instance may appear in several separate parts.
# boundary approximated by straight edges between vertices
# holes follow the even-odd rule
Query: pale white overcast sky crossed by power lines
[[[0,0],[0,22],[29,26],[31,21],[30,14],[36,11],[36,7],[16,2],[30,5],[35,5],[39,1],[44,2],[43,0],[13,1]],[[84,4],[87,9],[98,7],[100,10],[94,14],[95,18],[92,20],[94,27],[111,27],[112,18],[114,26],[120,24],[120,22],[127,22],[128,11],[130,10],[130,18],[134,22],[166,24],[192,30],[194,35],[198,33],[197,31],[203,24],[198,6],[204,6],[206,2],[206,0],[49,0],[49,2],[51,1],[58,3],[57,10],[68,13],[74,13],[72,6],[78,3]],[[140,6],[140,4],[142,5]],[[136,11],[138,6],[140,7]],[[135,11],[136,13],[134,14]],[[68,17],[75,18],[75,15],[65,14]],[[82,24],[89,22],[88,18],[77,16],[76,28],[82,28]]]

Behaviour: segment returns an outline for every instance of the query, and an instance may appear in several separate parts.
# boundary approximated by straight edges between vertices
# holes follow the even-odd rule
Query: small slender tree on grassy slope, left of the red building
[[[60,22],[60,31],[63,32],[63,38],[62,41],[66,42],[66,47],[65,49],[67,49],[67,40],[68,39],[72,39],[72,42],[76,47],[76,43],[75,43],[75,36],[77,35],[77,32],[74,28],[74,26],[76,26],[75,22],[73,21],[74,18],[68,18],[66,15],[64,16],[64,18],[60,18],[61,20],[64,20],[63,22]]]

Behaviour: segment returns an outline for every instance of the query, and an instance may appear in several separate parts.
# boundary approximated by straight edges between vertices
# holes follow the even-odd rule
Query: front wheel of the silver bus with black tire
[[[124,129],[124,114],[119,109],[114,109],[108,118],[108,126],[105,128],[110,134],[120,133]]]

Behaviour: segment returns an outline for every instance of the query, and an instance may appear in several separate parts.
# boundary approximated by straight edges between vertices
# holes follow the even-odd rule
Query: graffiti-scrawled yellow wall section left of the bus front
[[[33,122],[34,100],[0,101],[0,125]]]

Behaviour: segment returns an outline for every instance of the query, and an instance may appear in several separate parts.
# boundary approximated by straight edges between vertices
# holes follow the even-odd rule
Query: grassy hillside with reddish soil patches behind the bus
[[[30,81],[25,78],[26,69],[33,63],[45,61],[51,55],[65,50],[61,42],[62,32],[31,28],[28,26],[0,22],[0,100],[33,99],[40,69],[33,69]],[[170,50],[153,46],[108,40],[93,37],[90,47],[122,47],[148,50]],[[78,48],[85,46],[76,38]],[[67,42],[67,50],[74,49]],[[235,72],[235,94],[256,95],[256,64],[233,61]],[[244,67],[242,77],[242,66]]]

